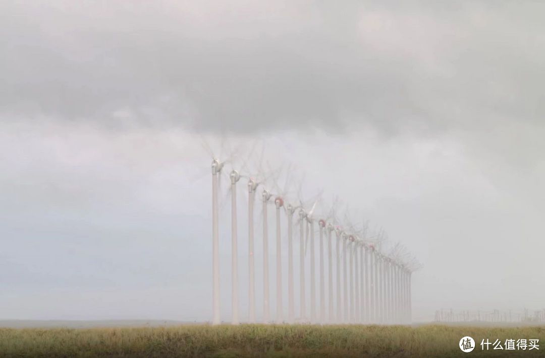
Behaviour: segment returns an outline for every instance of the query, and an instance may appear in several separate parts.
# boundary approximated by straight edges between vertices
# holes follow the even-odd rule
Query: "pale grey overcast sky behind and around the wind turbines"
[[[0,319],[210,319],[203,142],[223,157],[242,145],[234,166],[264,148],[293,163],[302,195],[337,195],[407,246],[423,264],[415,320],[543,308],[543,11],[0,1]]]

